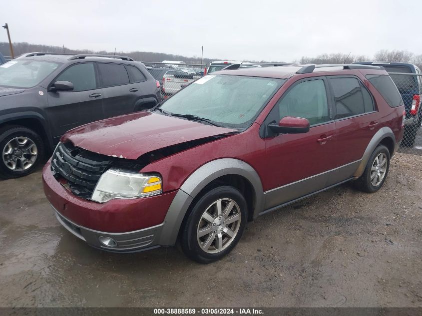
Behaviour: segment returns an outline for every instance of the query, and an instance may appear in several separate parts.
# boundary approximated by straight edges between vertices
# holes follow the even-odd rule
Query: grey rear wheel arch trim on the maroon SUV
[[[377,146],[380,144],[385,145],[389,149],[391,157],[394,155],[396,148],[396,137],[394,136],[393,130],[390,127],[385,126],[381,128],[372,137],[364,152],[364,155],[362,156],[362,161],[359,164],[359,167],[356,170],[355,174],[353,175],[355,179],[362,176],[365,171],[365,167],[368,163],[368,160],[371,157],[371,154],[374,152],[375,148],[377,148]]]

